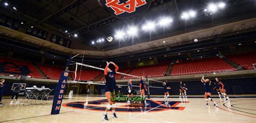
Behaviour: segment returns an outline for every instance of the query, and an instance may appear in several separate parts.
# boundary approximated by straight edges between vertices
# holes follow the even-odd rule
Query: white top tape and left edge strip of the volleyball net
[[[75,61],[72,61],[72,62],[73,62],[73,63],[76,63],[76,71],[77,71],[78,65],[85,66],[85,67],[91,67],[91,68],[93,68],[93,69],[98,69],[98,70],[104,71],[104,69],[103,69],[103,68],[100,68],[100,67],[96,67],[96,66],[92,66],[92,65],[87,65],[87,64],[83,64],[83,63],[77,63],[77,62],[75,62]],[[75,71],[75,79],[73,80],[74,83],[77,83],[77,82],[79,81],[79,80],[76,81],[76,71]],[[140,77],[138,77],[138,76],[134,76],[134,75],[131,75],[131,74],[126,74],[126,73],[121,73],[121,72],[116,72],[116,73],[122,74],[122,75],[125,75],[125,76],[140,78]],[[164,83],[163,81],[154,80],[154,79],[150,79],[150,78],[148,78],[148,80],[156,81],[156,82],[158,82],[158,83]],[[88,84],[91,84],[91,83],[88,83]],[[104,84],[104,85],[105,85],[105,84]],[[127,86],[127,85],[126,85],[126,86]],[[161,88],[162,88],[162,87],[161,87]]]

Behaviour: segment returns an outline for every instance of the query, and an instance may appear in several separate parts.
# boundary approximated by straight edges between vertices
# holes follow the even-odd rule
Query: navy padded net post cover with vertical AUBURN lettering
[[[62,106],[62,99],[66,91],[67,81],[68,81],[69,72],[63,71],[60,79],[58,81],[58,85],[56,86],[51,114],[59,114],[60,107]]]

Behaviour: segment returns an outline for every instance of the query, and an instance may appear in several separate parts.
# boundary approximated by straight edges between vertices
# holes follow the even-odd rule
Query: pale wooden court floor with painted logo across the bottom
[[[230,101],[213,98],[217,107],[212,103],[205,106],[204,98],[198,97],[203,95],[174,96],[165,103],[163,97],[156,96],[147,100],[146,108],[129,108],[127,103],[117,103],[119,118],[112,118],[112,111],[109,111],[109,121],[103,120],[105,97],[79,95],[64,99],[58,115],[50,115],[52,100],[42,101],[42,105],[39,105],[41,101],[35,105],[33,100],[32,105],[27,105],[27,99],[19,100],[19,104],[10,104],[10,99],[3,99],[0,122],[256,122],[255,95],[233,95]]]

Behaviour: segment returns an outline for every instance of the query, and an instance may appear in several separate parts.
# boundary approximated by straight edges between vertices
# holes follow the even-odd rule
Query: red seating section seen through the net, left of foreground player
[[[92,81],[93,79],[98,77],[100,73],[102,73],[102,71],[99,70],[82,70],[81,72],[78,70],[76,81],[78,81],[79,79],[82,81]],[[75,79],[74,72],[71,72],[70,75],[72,79]]]

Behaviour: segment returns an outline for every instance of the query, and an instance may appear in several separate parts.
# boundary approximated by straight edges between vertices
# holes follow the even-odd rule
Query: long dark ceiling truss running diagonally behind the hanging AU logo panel
[[[158,5],[162,5],[162,4],[165,4],[165,3],[170,2],[170,1],[172,1],[172,0],[156,0],[156,1],[152,2],[150,8],[154,8]],[[116,18],[116,17],[110,17],[110,18],[99,19],[99,20],[100,21],[95,22],[91,25],[84,26],[83,28],[80,28],[78,30],[71,31],[71,33],[83,34],[83,33],[89,32],[91,30],[95,30],[97,28],[100,28],[102,26],[106,26],[106,25],[109,25],[111,23],[117,22],[118,20],[122,20],[122,19]]]

